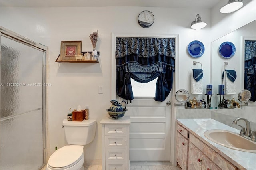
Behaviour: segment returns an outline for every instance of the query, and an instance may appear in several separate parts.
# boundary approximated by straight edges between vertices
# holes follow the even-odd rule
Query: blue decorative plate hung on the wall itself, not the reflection
[[[192,41],[188,44],[188,53],[194,58],[201,57],[204,54],[204,44],[200,41]]]

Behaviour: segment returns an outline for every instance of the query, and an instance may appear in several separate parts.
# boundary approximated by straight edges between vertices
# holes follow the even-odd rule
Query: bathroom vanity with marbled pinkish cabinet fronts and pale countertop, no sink
[[[212,129],[240,133],[214,119],[176,119],[176,160],[182,170],[254,170],[256,153],[227,148],[208,140]]]

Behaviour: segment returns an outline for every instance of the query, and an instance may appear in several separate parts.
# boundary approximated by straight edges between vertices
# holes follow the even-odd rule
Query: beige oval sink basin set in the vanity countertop
[[[212,140],[212,142],[231,149],[256,153],[256,142],[246,139],[238,133],[228,130],[213,129],[204,132],[204,136]]]

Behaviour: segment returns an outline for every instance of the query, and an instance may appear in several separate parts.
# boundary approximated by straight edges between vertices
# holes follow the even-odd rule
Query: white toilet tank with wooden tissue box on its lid
[[[94,139],[96,120],[88,119],[81,122],[63,120],[65,137],[68,144],[86,145]]]

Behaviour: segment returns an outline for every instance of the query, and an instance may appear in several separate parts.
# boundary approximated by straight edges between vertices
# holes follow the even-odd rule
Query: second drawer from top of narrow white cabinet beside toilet
[[[126,136],[105,136],[105,148],[126,149]]]

